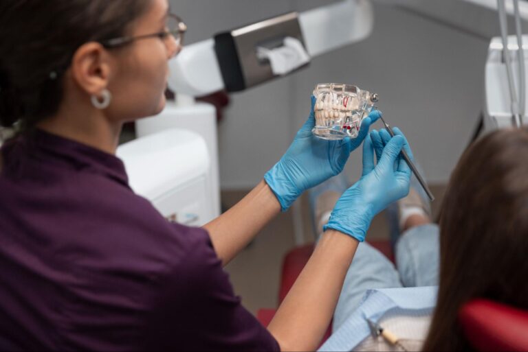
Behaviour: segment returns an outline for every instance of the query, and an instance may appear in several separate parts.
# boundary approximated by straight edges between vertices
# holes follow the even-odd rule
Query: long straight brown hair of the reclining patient
[[[528,129],[493,132],[462,156],[440,218],[438,303],[424,351],[471,350],[467,301],[528,309]]]

